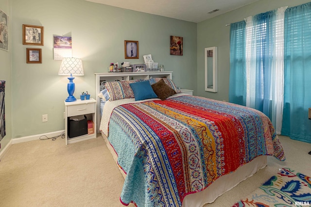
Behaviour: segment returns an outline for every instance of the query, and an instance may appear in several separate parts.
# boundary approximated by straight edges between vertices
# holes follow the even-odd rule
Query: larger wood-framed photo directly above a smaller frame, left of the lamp
[[[23,24],[23,45],[43,46],[43,27]]]

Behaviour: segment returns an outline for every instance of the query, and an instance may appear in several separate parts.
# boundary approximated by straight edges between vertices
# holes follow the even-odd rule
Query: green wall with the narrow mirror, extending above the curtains
[[[225,25],[282,6],[293,7],[307,2],[310,0],[259,0],[224,15],[198,23],[196,95],[225,101],[229,99],[230,26]],[[218,47],[218,92],[212,93],[204,91],[204,48],[215,46]]]

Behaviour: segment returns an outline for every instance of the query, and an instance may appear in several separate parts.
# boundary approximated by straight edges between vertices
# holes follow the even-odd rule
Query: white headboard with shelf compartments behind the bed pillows
[[[161,72],[132,72],[132,73],[125,73],[125,72],[119,72],[119,73],[94,73],[95,74],[95,90],[96,90],[96,100],[97,100],[97,133],[99,133],[99,127],[101,123],[101,113],[100,113],[100,98],[97,96],[101,90],[103,89],[101,87],[101,83],[103,81],[110,82],[110,81],[116,81],[116,80],[138,80],[138,79],[144,79],[148,80],[151,78],[162,78],[166,77],[168,79],[172,79],[172,73],[173,71],[161,71]]]

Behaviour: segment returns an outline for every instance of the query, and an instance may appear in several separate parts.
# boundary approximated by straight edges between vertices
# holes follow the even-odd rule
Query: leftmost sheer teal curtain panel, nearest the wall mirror
[[[229,102],[246,106],[245,21],[230,27]]]

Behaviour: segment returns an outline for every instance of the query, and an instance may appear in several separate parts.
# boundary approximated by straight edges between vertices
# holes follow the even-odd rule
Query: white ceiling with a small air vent
[[[175,19],[201,22],[258,0],[87,0]],[[219,9],[212,14],[210,11]]]

